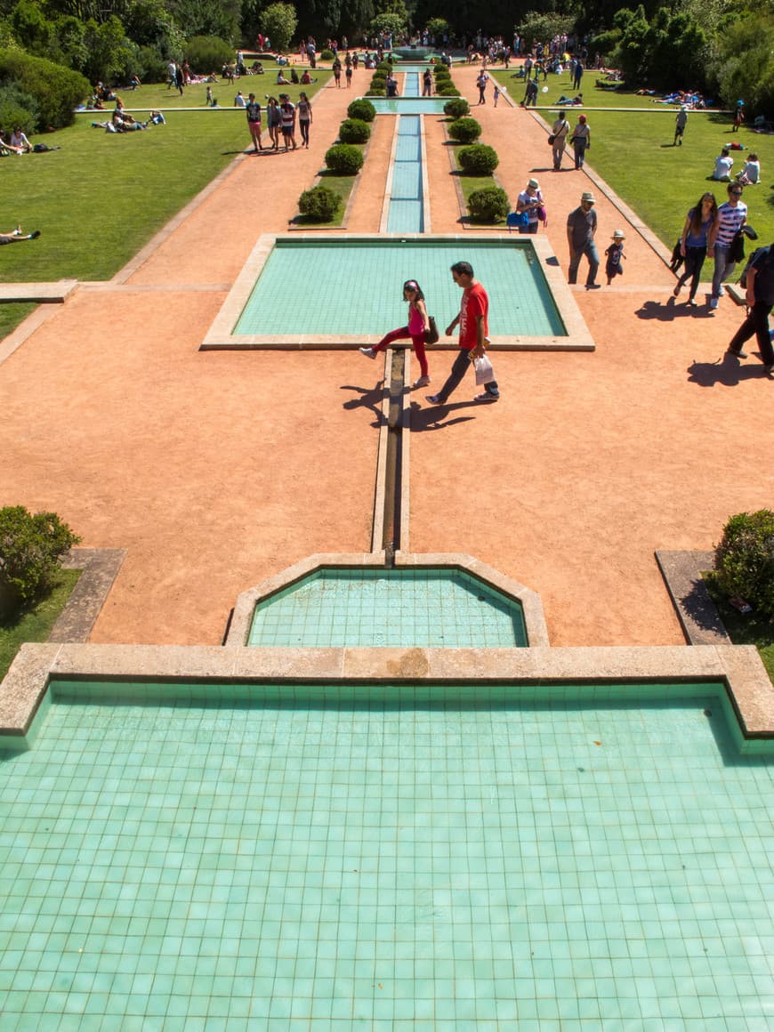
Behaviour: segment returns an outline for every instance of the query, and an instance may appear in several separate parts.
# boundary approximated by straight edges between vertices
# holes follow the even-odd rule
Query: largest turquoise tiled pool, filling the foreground
[[[0,763],[3,1030],[769,1029],[722,690],[60,682]]]

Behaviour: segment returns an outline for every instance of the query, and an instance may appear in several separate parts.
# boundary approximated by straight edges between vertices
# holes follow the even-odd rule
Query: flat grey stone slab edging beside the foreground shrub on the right
[[[672,603],[690,645],[730,645],[731,639],[710,598],[702,571],[714,570],[714,552],[655,553]]]

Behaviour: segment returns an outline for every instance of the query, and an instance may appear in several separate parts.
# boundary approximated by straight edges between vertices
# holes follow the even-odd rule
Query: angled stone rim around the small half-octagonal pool
[[[506,577],[480,559],[476,559],[472,555],[465,555],[463,552],[411,553],[398,550],[395,552],[394,562],[398,569],[411,567],[426,569],[431,567],[433,569],[461,570],[464,573],[471,574],[473,577],[484,581],[489,587],[494,588],[495,591],[499,591],[507,598],[521,604],[526,628],[526,640],[530,648],[548,645],[546,618],[543,613],[543,603],[538,592],[524,587],[523,584],[519,584],[518,581],[512,580],[510,577]],[[281,573],[267,578],[255,587],[248,588],[239,594],[224,644],[231,648],[246,647],[256,605],[323,567],[344,567],[351,570],[356,570],[360,567],[384,569],[385,555],[383,551],[354,553],[321,552],[317,555],[308,555],[292,567],[287,567]]]

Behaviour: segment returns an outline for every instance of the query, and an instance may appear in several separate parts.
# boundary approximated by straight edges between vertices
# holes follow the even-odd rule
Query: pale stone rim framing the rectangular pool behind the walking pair
[[[325,244],[335,246],[347,243],[372,243],[385,239],[417,240],[427,241],[431,238],[433,243],[450,243],[464,240],[464,246],[470,248],[478,244],[482,247],[492,244],[508,244],[508,236],[502,233],[493,238],[492,234],[486,233],[340,233],[337,236],[323,237]],[[264,233],[258,238],[258,243],[253,248],[248,260],[245,262],[239,276],[237,277],[228,296],[223,302],[220,312],[216,316],[204,340],[200,351],[219,350],[277,350],[277,351],[303,351],[303,350],[351,350],[355,347],[372,346],[378,344],[381,335],[374,333],[360,333],[347,335],[342,333],[319,333],[319,334],[239,334],[233,330],[239,316],[248,302],[248,299],[258,281],[263,267],[268,261],[269,255],[278,241],[292,240],[303,243],[312,240],[320,243],[321,237],[316,233]],[[518,239],[518,245],[517,245]],[[515,237],[514,246],[524,246],[524,237]],[[567,330],[567,335],[562,336],[525,336],[525,335],[501,335],[492,336],[491,345],[495,349],[505,351],[593,351],[594,342],[585,320],[580,313],[578,303],[573,296],[573,292],[568,286],[561,272],[556,256],[551,245],[543,236],[529,236],[528,243],[535,250],[543,275],[553,295],[554,302],[558,309],[561,320]],[[433,345],[438,348],[438,345]],[[450,343],[449,349],[456,350],[456,343]]]

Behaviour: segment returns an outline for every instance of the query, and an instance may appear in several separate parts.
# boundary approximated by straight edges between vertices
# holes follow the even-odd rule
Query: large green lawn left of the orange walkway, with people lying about
[[[316,74],[317,84],[308,88],[313,102],[312,90],[330,77],[329,71]],[[203,85],[187,88],[183,97],[163,86],[142,86],[123,94],[127,108],[162,108],[166,125],[111,134],[92,128],[109,110],[92,111],[67,129],[33,137],[60,151],[2,159],[0,229],[21,222],[42,235],[3,248],[0,280],[109,279],[250,144],[245,112],[231,106],[233,97],[239,88],[253,89],[264,103],[263,94],[277,90],[273,78],[267,73],[214,86],[221,109],[181,110],[203,105]],[[297,97],[301,88],[282,89]]]

